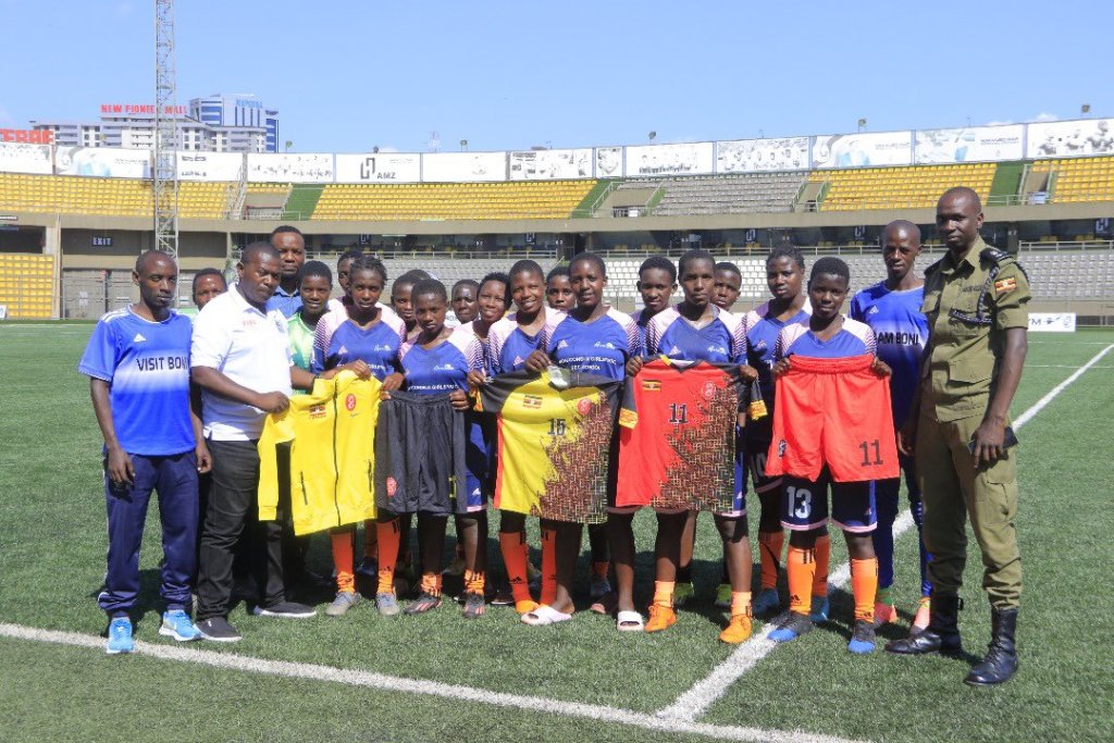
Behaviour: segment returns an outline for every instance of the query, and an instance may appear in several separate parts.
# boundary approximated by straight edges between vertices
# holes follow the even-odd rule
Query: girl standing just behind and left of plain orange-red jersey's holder
[[[762,512],[759,517],[759,565],[761,590],[754,599],[755,616],[776,613],[781,607],[778,595],[778,573],[781,568],[785,532],[781,527],[781,478],[765,476],[766,452],[773,433],[773,348],[778,334],[793,323],[807,320],[811,313],[809,297],[802,290],[804,282],[804,254],[797,247],[781,246],[766,256],[766,286],[772,299],[743,316],[746,333],[747,363],[759,372],[759,391],[762,407],[753,408],[745,431],[747,467],[751,481],[759,497]],[[812,586],[812,619],[828,618],[828,563],[830,556],[828,531],[817,537],[817,580]]]

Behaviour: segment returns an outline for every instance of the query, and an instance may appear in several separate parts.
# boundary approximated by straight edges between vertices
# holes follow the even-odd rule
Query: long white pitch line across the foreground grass
[[[37,629],[21,625],[0,623],[0,636],[55,645],[86,647],[104,652],[105,641],[94,635],[81,635],[72,632]],[[405,694],[421,694],[453,701],[479,702],[512,710],[531,710],[535,712],[555,714],[565,717],[579,717],[598,722],[616,723],[643,730],[667,733],[685,733],[701,735],[719,741],[753,741],[771,743],[854,743],[849,739],[832,735],[818,735],[802,731],[764,730],[761,727],[739,727],[734,725],[712,725],[686,720],[663,720],[661,717],[619,710],[597,704],[578,702],[561,702],[539,696],[522,696],[504,694],[471,686],[442,684],[432,681],[402,678],[369,671],[335,668],[311,663],[291,663],[286,661],[268,661],[233,653],[215,653],[197,647],[182,645],[160,645],[136,642],[136,652],[143,657],[193,663],[228,671],[256,673],[287,678],[305,678],[323,681],[349,686],[364,686]]]

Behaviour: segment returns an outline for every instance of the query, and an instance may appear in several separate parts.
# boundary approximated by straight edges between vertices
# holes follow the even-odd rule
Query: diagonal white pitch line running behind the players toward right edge
[[[1037,400],[1028,410],[1018,416],[1014,420],[1014,430],[1020,429],[1023,426],[1033,420],[1033,417],[1038,412],[1044,410],[1045,405],[1052,402],[1056,395],[1063,392],[1072,382],[1079,379],[1085,371],[1098,363],[1103,356],[1105,356],[1112,349],[1114,344],[1107,345],[1105,349],[1092,356],[1091,361],[1083,364],[1075,370],[1075,373],[1071,374],[1063,382],[1054,387],[1048,391],[1043,398]],[[909,530],[912,526],[912,515],[905,510],[893,522],[893,539],[896,540],[902,534]],[[834,588],[840,588],[844,586],[851,579],[851,566],[849,563],[843,563],[834,570],[829,573],[828,584]],[[773,632],[773,624],[768,623],[762,632],[755,634],[753,637],[747,639],[745,643],[740,645],[727,658],[712,669],[712,673],[696,682],[688,691],[677,697],[677,700],[667,707],[663,707],[657,711],[657,716],[666,720],[695,720],[697,715],[704,714],[721,696],[726,694],[727,688],[731,687],[736,681],[742,677],[747,671],[753,668],[762,658],[770,655],[773,648],[778,646],[778,643],[769,638],[770,633]]]

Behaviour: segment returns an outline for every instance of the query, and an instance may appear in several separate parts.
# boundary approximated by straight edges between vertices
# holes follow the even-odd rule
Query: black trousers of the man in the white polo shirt
[[[289,501],[278,501],[274,521],[258,520],[260,454],[255,441],[208,441],[213,481],[202,527],[197,576],[197,619],[228,615],[232,564],[245,528],[263,606],[285,600],[282,522]]]

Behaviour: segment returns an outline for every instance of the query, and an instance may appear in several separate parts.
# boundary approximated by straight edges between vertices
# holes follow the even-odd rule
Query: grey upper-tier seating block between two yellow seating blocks
[[[791,212],[802,173],[769,173],[692,178],[639,178],[627,180],[620,190],[661,188],[661,201],[652,213],[661,216],[686,214],[754,214]]]

